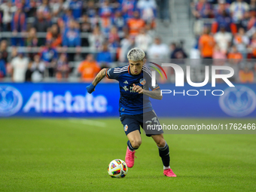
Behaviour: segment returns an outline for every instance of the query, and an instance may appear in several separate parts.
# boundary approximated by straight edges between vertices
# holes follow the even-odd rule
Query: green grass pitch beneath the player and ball
[[[190,120],[200,122],[172,122]],[[256,135],[165,135],[165,139],[177,178],[163,176],[157,146],[142,135],[135,166],[118,179],[107,172],[108,163],[124,160],[126,153],[127,139],[118,118],[1,119],[0,191],[256,190]]]

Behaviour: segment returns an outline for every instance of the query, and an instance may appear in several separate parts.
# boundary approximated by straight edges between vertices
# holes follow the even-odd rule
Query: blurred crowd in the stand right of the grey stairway
[[[254,82],[256,0],[194,0],[191,8],[197,44],[190,58],[230,65],[239,82]]]

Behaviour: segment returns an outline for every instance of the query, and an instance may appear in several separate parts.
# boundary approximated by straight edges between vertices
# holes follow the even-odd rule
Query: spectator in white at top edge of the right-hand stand
[[[239,23],[246,11],[249,11],[249,6],[243,0],[236,0],[236,2],[230,5],[230,12],[234,23]]]

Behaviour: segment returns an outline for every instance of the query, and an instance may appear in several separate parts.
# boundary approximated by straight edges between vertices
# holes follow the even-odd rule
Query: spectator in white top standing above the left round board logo
[[[14,82],[24,82],[26,69],[29,65],[29,59],[23,56],[23,53],[18,53],[18,56],[11,60],[12,80]]]

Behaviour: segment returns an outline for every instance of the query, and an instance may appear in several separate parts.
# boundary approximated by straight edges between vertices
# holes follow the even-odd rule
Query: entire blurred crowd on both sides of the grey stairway
[[[255,81],[256,65],[245,60],[256,59],[256,0],[191,1],[197,44],[190,58],[231,64],[239,82]],[[148,59],[182,66],[184,42],[166,44],[156,32],[157,18],[169,23],[168,2],[0,0],[0,79],[69,81],[75,75],[90,82],[100,69],[126,64],[133,47]]]

